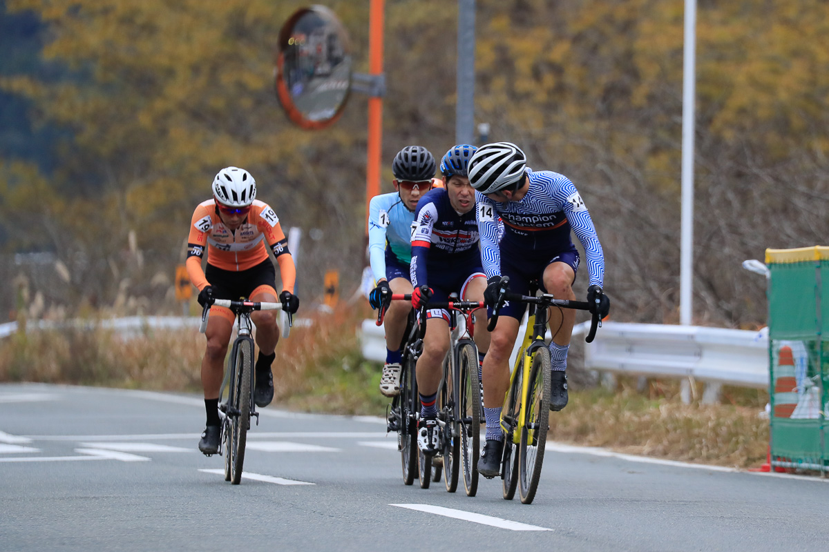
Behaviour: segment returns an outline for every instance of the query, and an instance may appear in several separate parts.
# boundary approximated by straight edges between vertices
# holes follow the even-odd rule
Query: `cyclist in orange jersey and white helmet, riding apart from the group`
[[[211,299],[277,301],[276,271],[265,243],[279,262],[283,309],[295,313],[299,299],[293,295],[296,266],[288,252],[288,240],[279,226],[279,217],[268,204],[256,199],[256,182],[247,170],[234,166],[222,169],[213,179],[213,199],[196,207],[187,238],[187,274],[199,290],[199,305]],[[201,259],[207,248],[207,268]],[[274,399],[271,363],[279,341],[276,311],[255,311],[250,319],[256,325],[259,357],[255,364],[256,406],[268,406]],[[201,360],[201,386],[205,393],[207,423],[199,441],[204,454],[219,450],[219,391],[225,374],[225,354],[230,343],[235,316],[225,307],[211,307],[207,321],[207,348]]]

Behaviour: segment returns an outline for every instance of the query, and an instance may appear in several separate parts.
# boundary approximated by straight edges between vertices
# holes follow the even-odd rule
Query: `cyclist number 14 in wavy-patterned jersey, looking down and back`
[[[469,161],[469,182],[477,190],[487,305],[494,305],[497,300],[502,276],[509,276],[513,293],[527,295],[530,282],[537,279],[546,293],[574,300],[572,285],[579,268],[579,252],[570,239],[572,230],[587,257],[587,300],[603,318],[608,314],[610,300],[602,290],[602,245],[584,201],[567,177],[550,170],[533,171],[526,167],[526,156],[518,146],[497,142],[482,146]],[[500,243],[499,216],[504,225]],[[508,362],[525,309],[526,305],[514,301],[502,307],[483,362],[484,405],[500,405],[507,393]],[[561,410],[567,405],[565,368],[575,313],[570,309],[550,309],[549,320],[553,336],[550,410]],[[484,406],[484,414],[487,443],[478,470],[484,477],[492,478],[500,473],[501,408]]]

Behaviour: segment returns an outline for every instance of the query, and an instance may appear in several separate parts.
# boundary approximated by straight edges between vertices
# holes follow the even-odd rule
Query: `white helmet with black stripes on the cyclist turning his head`
[[[524,177],[526,156],[511,142],[495,142],[478,148],[469,159],[469,184],[482,194],[492,194]]]

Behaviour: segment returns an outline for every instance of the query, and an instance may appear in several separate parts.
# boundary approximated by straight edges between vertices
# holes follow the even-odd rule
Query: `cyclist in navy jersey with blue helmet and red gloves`
[[[483,300],[487,282],[478,248],[475,190],[467,177],[468,161],[475,150],[466,144],[450,148],[440,163],[445,187],[425,194],[417,204],[410,270],[415,309],[429,299],[446,301],[453,292],[463,300]],[[449,350],[449,313],[429,310],[426,319],[423,353],[417,361],[418,445],[424,454],[434,455],[439,450],[436,402],[441,363]],[[489,346],[485,316],[478,317],[474,331],[482,358]]]

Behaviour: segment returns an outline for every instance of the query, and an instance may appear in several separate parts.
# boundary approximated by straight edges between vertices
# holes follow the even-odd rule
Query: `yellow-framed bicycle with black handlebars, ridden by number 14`
[[[553,295],[539,296],[511,294],[507,291],[509,279],[502,280],[496,308],[493,309],[488,329],[497,324],[497,311],[504,300],[521,301],[529,305],[526,330],[521,348],[510,374],[510,385],[501,410],[501,429],[504,433],[502,453],[502,487],[505,500],[515,497],[520,490],[521,503],[531,504],[536,497],[544,462],[544,447],[550,429],[550,349],[544,341],[550,306],[574,310],[590,310],[587,301],[555,299]],[[537,283],[536,283],[537,284]],[[531,286],[535,293],[536,286]],[[599,314],[593,314],[590,331],[584,339],[591,343],[596,329],[601,326]],[[518,451],[516,454],[516,447]],[[520,484],[519,484],[520,483]]]

